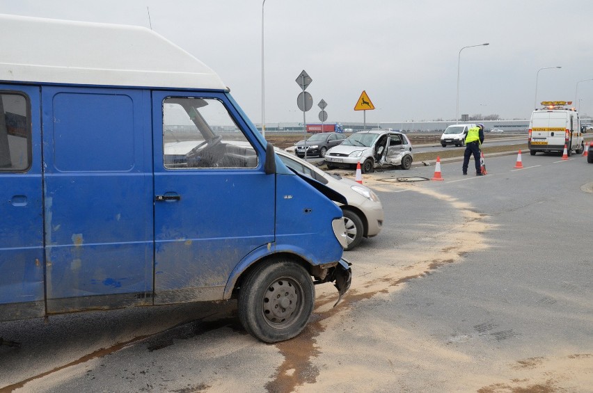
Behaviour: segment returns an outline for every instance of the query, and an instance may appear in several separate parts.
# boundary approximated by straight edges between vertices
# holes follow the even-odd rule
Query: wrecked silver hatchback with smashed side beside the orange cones
[[[328,169],[356,168],[360,162],[362,173],[381,166],[409,169],[412,161],[412,144],[408,137],[401,132],[381,129],[356,132],[325,155]]]

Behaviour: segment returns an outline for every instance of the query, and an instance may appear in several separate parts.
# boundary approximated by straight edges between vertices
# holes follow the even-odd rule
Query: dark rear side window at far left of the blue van
[[[31,166],[31,107],[19,93],[0,93],[0,171]]]

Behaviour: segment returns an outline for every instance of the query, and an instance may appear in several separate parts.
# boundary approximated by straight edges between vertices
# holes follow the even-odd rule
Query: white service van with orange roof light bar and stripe
[[[529,121],[528,147],[532,156],[537,152],[572,152],[580,154],[585,146],[580,129],[578,112],[571,108],[572,102],[544,101],[542,108],[531,114]]]

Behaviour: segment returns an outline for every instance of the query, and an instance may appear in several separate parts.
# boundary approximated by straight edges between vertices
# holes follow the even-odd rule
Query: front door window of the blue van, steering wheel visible
[[[258,166],[255,149],[218,99],[166,98],[163,144],[168,169]]]

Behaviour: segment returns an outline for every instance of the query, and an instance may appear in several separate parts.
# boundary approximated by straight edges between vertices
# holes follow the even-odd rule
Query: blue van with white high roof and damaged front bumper
[[[0,320],[236,298],[278,342],[347,291],[344,197],[203,63],[136,26],[0,15],[0,42]]]

